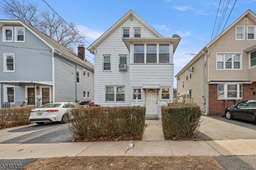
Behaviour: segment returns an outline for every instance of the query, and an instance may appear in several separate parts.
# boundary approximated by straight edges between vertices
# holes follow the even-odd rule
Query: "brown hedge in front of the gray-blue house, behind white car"
[[[29,125],[32,107],[0,109],[0,129]]]

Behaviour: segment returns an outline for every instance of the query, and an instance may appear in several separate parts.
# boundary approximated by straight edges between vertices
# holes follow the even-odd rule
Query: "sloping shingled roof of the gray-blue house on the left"
[[[21,20],[0,20],[0,23],[5,23],[5,22],[15,22],[15,23],[19,23],[21,25],[23,25],[24,27],[26,27],[28,30],[30,30],[33,34],[39,36],[38,38],[40,38],[43,42],[45,42],[49,47],[51,47],[53,50],[56,50],[62,54],[64,54],[66,56],[66,58],[74,60],[76,63],[80,63],[82,65],[87,66],[88,68],[92,69],[93,65],[92,63],[90,63],[89,61],[83,61],[82,59],[80,59],[76,53],[74,53],[73,51],[71,51],[70,49],[68,49],[67,47],[64,47],[63,45],[61,45],[60,43],[56,42],[55,40],[53,40],[52,38],[50,38],[49,36],[47,36],[46,34],[40,32],[39,30],[37,30],[36,28],[30,26],[29,24],[27,24],[24,21]],[[4,24],[0,24],[0,27],[4,26]],[[61,55],[63,56],[63,55]],[[65,57],[63,56],[63,57]]]

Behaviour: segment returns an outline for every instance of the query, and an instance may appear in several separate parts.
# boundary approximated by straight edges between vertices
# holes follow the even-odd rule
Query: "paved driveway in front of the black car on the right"
[[[256,139],[256,123],[228,120],[221,115],[203,116],[199,138],[202,140]]]

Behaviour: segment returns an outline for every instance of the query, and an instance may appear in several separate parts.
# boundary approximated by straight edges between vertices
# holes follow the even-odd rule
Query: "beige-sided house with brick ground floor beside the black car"
[[[198,103],[205,115],[256,98],[256,15],[246,11],[175,77],[178,99]]]

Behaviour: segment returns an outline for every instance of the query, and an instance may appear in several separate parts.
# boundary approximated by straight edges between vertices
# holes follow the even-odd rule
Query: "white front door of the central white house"
[[[146,116],[158,115],[157,89],[145,89],[146,91]]]

